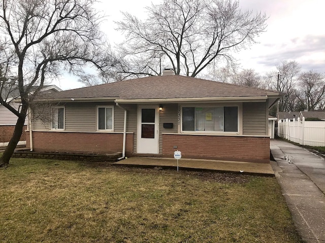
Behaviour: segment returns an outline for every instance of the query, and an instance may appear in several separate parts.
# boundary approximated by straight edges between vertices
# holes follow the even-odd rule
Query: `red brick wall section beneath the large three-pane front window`
[[[270,163],[269,137],[163,134],[163,155],[173,156],[173,146],[177,146],[184,158]]]

